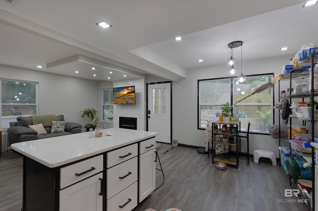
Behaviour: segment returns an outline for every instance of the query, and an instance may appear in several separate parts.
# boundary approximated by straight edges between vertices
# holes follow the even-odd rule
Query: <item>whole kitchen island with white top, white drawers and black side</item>
[[[156,135],[110,128],[12,144],[23,156],[23,211],[133,210],[155,190]]]

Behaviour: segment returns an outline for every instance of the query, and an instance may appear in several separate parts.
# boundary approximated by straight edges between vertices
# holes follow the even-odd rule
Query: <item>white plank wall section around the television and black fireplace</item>
[[[135,86],[136,104],[114,105],[114,128],[119,127],[119,116],[136,117],[137,130],[146,130],[145,79],[114,81],[114,87]]]

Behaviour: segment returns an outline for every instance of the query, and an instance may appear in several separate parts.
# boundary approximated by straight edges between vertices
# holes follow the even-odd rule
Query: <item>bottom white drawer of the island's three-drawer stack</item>
[[[107,211],[131,211],[137,206],[137,182],[107,200]]]

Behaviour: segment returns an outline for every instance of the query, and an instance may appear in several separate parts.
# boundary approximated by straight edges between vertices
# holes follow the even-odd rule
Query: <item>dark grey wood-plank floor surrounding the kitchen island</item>
[[[175,147],[159,158],[164,183],[137,211],[310,211],[295,202],[299,198],[284,197],[285,189],[296,185],[290,187],[282,167],[269,160],[258,164],[250,160],[247,165],[246,158],[240,157],[239,169],[219,170],[211,156],[186,147]],[[160,185],[161,172],[157,170],[156,176]],[[9,150],[0,157],[0,211],[21,211],[21,207],[22,157]]]

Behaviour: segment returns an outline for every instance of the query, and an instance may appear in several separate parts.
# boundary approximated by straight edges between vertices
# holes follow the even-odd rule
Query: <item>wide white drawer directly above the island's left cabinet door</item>
[[[102,155],[63,167],[60,169],[60,188],[63,189],[102,170]]]

